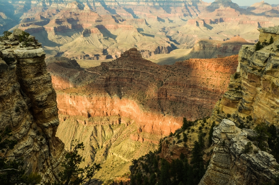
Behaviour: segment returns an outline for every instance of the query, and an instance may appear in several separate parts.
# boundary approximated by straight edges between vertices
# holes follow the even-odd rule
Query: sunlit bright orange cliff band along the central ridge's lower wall
[[[135,120],[142,132],[150,134],[168,135],[182,126],[182,117],[143,112],[136,102],[116,96],[87,97],[58,93],[57,102],[60,114],[84,117],[123,116]]]

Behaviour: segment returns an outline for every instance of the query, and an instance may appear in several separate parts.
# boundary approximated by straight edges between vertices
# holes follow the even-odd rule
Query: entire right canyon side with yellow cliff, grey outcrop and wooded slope
[[[241,47],[237,72],[230,76],[227,91],[215,104],[211,116],[195,122],[186,122],[174,134],[161,140],[161,150],[137,159],[130,168],[131,184],[141,182],[137,180],[140,178],[134,179],[137,176],[142,179],[147,177],[148,180],[153,178],[152,175],[155,175],[152,184],[158,182],[160,184],[162,179],[160,174],[163,173],[162,166],[165,165],[165,161],[169,162],[170,170],[173,170],[173,166],[177,163],[183,173],[185,172],[183,161],[187,163],[187,183],[191,182],[189,177],[196,178],[189,173],[191,168],[198,169],[198,173],[206,170],[200,177],[201,180],[195,182],[199,185],[276,184],[278,182],[279,171],[276,161],[278,154],[273,151],[270,142],[272,138],[265,136],[264,147],[260,145],[258,139],[259,131],[262,131],[259,128],[263,127],[273,128],[272,131],[267,131],[267,134],[274,131],[278,137],[279,28],[276,26],[258,30],[262,42],[260,47],[251,45]],[[274,37],[273,42],[266,42],[272,40],[271,37]],[[212,143],[210,143],[210,136],[212,136]],[[204,149],[198,149],[200,147]],[[201,153],[197,153],[197,150]],[[194,166],[193,159],[196,157],[194,154],[202,157],[202,170]],[[154,171],[145,168],[146,165],[150,165],[152,155],[155,155],[158,164],[161,165],[158,176],[152,174]],[[185,161],[184,158],[187,160]],[[184,175],[183,173],[181,175]],[[171,177],[171,173],[165,174],[175,179]]]

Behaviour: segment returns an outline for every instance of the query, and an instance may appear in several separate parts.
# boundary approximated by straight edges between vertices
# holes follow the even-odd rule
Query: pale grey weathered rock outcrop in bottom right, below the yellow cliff
[[[227,119],[214,128],[213,154],[199,185],[259,184],[269,182],[278,174],[278,163],[271,154],[255,145],[253,151],[257,152],[244,153],[244,146],[249,142],[246,132]]]

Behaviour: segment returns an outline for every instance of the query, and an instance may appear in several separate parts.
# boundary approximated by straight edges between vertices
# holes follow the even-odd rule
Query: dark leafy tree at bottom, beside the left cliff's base
[[[92,184],[98,181],[99,179],[92,180],[92,178],[101,169],[100,164],[94,163],[92,166],[80,168],[79,165],[84,161],[84,158],[78,154],[78,151],[84,150],[84,145],[83,143],[75,143],[72,147],[72,150],[66,152],[62,163],[64,170],[59,173],[59,179],[53,185],[79,185],[87,182]]]

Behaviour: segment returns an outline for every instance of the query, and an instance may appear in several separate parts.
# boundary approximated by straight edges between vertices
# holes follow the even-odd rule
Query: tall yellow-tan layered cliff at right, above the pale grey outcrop
[[[240,117],[251,115],[255,123],[278,125],[279,40],[276,35],[279,29],[271,27],[260,31],[260,40],[274,36],[276,41],[259,51],[255,51],[255,46],[241,47],[237,74],[231,78],[220,108],[225,113]]]

